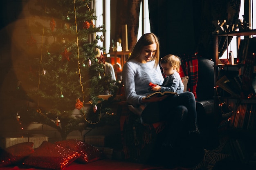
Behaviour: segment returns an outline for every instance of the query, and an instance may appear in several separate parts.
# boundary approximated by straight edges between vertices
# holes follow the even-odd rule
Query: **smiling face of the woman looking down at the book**
[[[138,61],[141,63],[146,63],[151,60],[151,58],[155,55],[157,51],[157,44],[150,44],[148,46],[144,46],[139,55]]]

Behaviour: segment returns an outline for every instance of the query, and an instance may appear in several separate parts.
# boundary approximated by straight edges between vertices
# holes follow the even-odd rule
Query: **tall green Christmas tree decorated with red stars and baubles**
[[[105,49],[98,45],[105,28],[94,25],[97,17],[90,1],[38,0],[36,8],[29,9],[33,21],[18,86],[34,106],[26,106],[17,117],[52,126],[63,139],[73,130],[97,124],[110,109],[106,103],[115,98],[99,98],[115,94],[117,85],[105,75]],[[73,115],[75,109],[80,115]]]

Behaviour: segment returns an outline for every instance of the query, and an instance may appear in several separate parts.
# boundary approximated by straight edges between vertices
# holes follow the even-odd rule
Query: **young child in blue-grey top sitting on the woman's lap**
[[[163,73],[166,75],[166,77],[162,86],[155,84],[155,86],[151,87],[151,91],[171,91],[177,92],[178,94],[182,93],[184,91],[184,85],[179,74],[180,64],[180,57],[172,54],[164,56],[160,62],[160,65],[163,68]],[[137,108],[132,105],[128,105],[128,108],[130,111],[140,116],[143,110],[146,108],[146,104],[142,104]]]

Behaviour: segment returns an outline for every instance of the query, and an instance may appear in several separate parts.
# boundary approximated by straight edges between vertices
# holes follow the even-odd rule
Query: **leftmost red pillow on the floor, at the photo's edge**
[[[0,167],[16,165],[34,152],[33,142],[23,142],[8,148],[0,149]]]

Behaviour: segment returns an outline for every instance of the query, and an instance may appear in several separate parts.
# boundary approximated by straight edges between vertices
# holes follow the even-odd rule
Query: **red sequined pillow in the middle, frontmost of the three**
[[[63,148],[48,141],[43,141],[43,143],[35,149],[34,153],[25,159],[23,164],[38,168],[62,170],[79,156],[80,154],[74,150]]]

